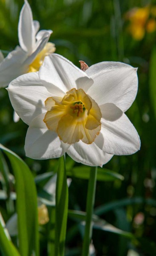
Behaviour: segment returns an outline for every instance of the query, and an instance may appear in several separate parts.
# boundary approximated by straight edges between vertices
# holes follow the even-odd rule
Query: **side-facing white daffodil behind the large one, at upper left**
[[[39,30],[40,24],[33,20],[27,0],[20,12],[18,39],[20,46],[6,58],[0,54],[0,87],[6,87],[18,76],[38,71],[45,56],[55,52],[55,45],[48,43],[52,30]]]

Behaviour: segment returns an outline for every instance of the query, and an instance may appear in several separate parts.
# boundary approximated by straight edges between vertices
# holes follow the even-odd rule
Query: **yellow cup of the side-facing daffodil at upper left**
[[[46,43],[45,47],[38,53],[33,62],[29,65],[28,73],[38,71],[44,58],[53,52],[55,52],[55,44],[50,42]]]

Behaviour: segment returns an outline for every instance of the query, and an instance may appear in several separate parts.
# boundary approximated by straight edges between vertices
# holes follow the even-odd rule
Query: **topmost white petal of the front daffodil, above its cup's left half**
[[[88,88],[92,84],[92,80],[84,71],[58,54],[51,54],[44,59],[39,77],[42,81],[59,87],[64,93],[72,88],[78,89],[80,86],[85,90],[85,86]],[[48,84],[47,90],[50,90]]]

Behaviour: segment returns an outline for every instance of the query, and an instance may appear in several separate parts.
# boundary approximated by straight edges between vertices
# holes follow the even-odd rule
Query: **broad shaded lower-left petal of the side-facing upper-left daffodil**
[[[13,79],[27,72],[28,66],[23,64],[27,54],[20,47],[10,52],[0,63],[0,87],[6,87]]]

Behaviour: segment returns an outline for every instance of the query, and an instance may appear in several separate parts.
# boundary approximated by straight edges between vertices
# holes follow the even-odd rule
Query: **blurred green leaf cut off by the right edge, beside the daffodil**
[[[156,47],[150,56],[150,98],[153,105],[153,110],[156,117]]]

